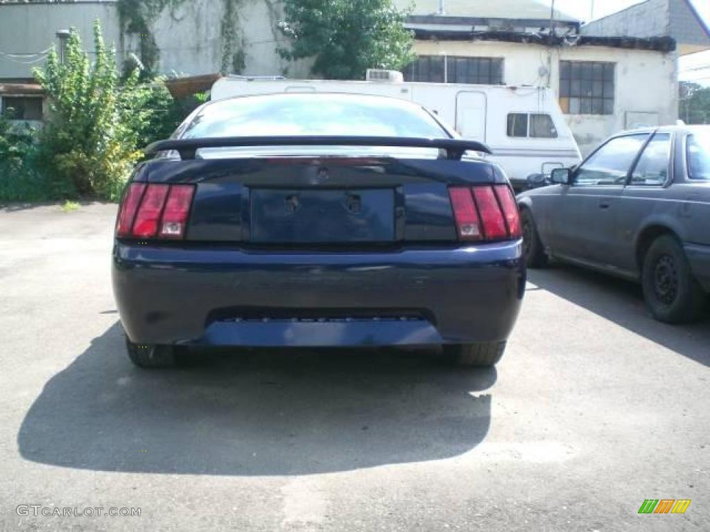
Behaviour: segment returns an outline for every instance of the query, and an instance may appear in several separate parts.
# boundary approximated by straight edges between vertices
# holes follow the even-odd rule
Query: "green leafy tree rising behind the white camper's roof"
[[[312,72],[327,79],[362,79],[368,68],[399,70],[414,59],[406,13],[392,0],[285,0],[280,30],[288,60],[314,59]]]

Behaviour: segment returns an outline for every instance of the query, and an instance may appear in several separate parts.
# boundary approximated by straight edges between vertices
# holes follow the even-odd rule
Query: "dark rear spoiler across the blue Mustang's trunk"
[[[175,150],[182,160],[194,159],[200,148],[244,146],[393,146],[397,148],[437,148],[446,150],[447,159],[460,160],[464,152],[492,153],[484,143],[459,138],[288,136],[288,137],[217,137],[158,140],[146,148],[146,155]]]

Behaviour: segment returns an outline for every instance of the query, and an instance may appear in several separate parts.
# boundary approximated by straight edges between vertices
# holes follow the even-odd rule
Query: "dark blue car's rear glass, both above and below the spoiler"
[[[377,136],[450,138],[420,106],[382,96],[351,94],[270,94],[247,96],[204,106],[178,138],[267,136]],[[197,157],[383,156],[437,158],[432,148],[386,146],[252,146],[202,148]]]

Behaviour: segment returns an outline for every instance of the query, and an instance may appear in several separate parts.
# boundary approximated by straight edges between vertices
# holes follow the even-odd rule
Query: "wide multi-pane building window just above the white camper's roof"
[[[408,82],[503,84],[503,60],[495,57],[420,55],[404,71]]]

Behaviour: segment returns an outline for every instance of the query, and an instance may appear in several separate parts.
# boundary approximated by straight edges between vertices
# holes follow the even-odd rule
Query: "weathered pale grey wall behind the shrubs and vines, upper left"
[[[288,74],[303,77],[308,62],[287,64],[276,49],[283,35],[276,28],[280,18],[278,0],[242,0],[236,14],[237,46],[245,52],[243,74]],[[95,19],[102,22],[107,43],[115,43],[119,64],[139,50],[138,35],[121,35],[113,1],[77,4],[0,4],[0,51],[35,53],[56,42],[55,32],[70,27],[80,31],[91,48]],[[166,9],[153,23],[153,36],[160,49],[157,70],[164,74],[211,74],[222,67],[222,21],[224,2],[192,0],[176,9]],[[0,55],[0,79],[31,78],[42,62],[23,65]]]

